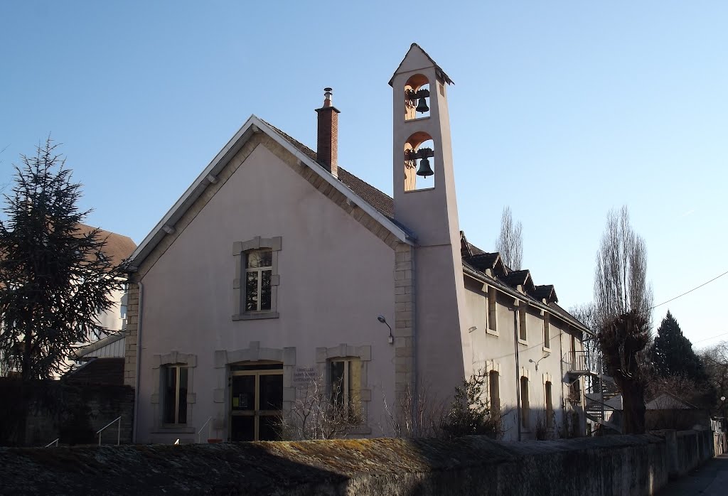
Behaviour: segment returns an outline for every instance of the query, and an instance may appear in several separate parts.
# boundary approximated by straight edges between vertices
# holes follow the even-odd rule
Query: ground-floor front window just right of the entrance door
[[[361,422],[361,361],[355,357],[329,361],[331,404],[347,422]]]

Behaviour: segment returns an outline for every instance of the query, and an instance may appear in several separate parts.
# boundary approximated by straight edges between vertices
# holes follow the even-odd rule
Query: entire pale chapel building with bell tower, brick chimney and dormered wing
[[[384,399],[447,404],[478,370],[506,439],[584,433],[587,329],[460,231],[451,83],[416,44],[389,81],[394,198],[338,167],[331,89],[317,152],[251,116],[205,167],[131,257],[135,441],[272,439],[312,375],[349,435],[387,435]]]

